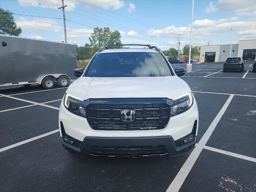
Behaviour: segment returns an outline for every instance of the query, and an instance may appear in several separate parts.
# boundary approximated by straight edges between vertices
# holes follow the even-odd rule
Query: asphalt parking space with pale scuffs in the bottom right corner
[[[203,150],[188,174],[180,192],[254,192],[256,163]]]

